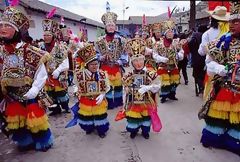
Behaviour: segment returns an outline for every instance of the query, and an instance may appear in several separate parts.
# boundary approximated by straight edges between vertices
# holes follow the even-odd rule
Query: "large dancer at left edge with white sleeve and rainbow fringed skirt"
[[[0,111],[6,130],[20,151],[47,151],[53,136],[44,108],[38,104],[47,71],[47,52],[23,42],[29,29],[28,18],[16,7],[7,7],[0,20],[1,89],[4,99]]]

